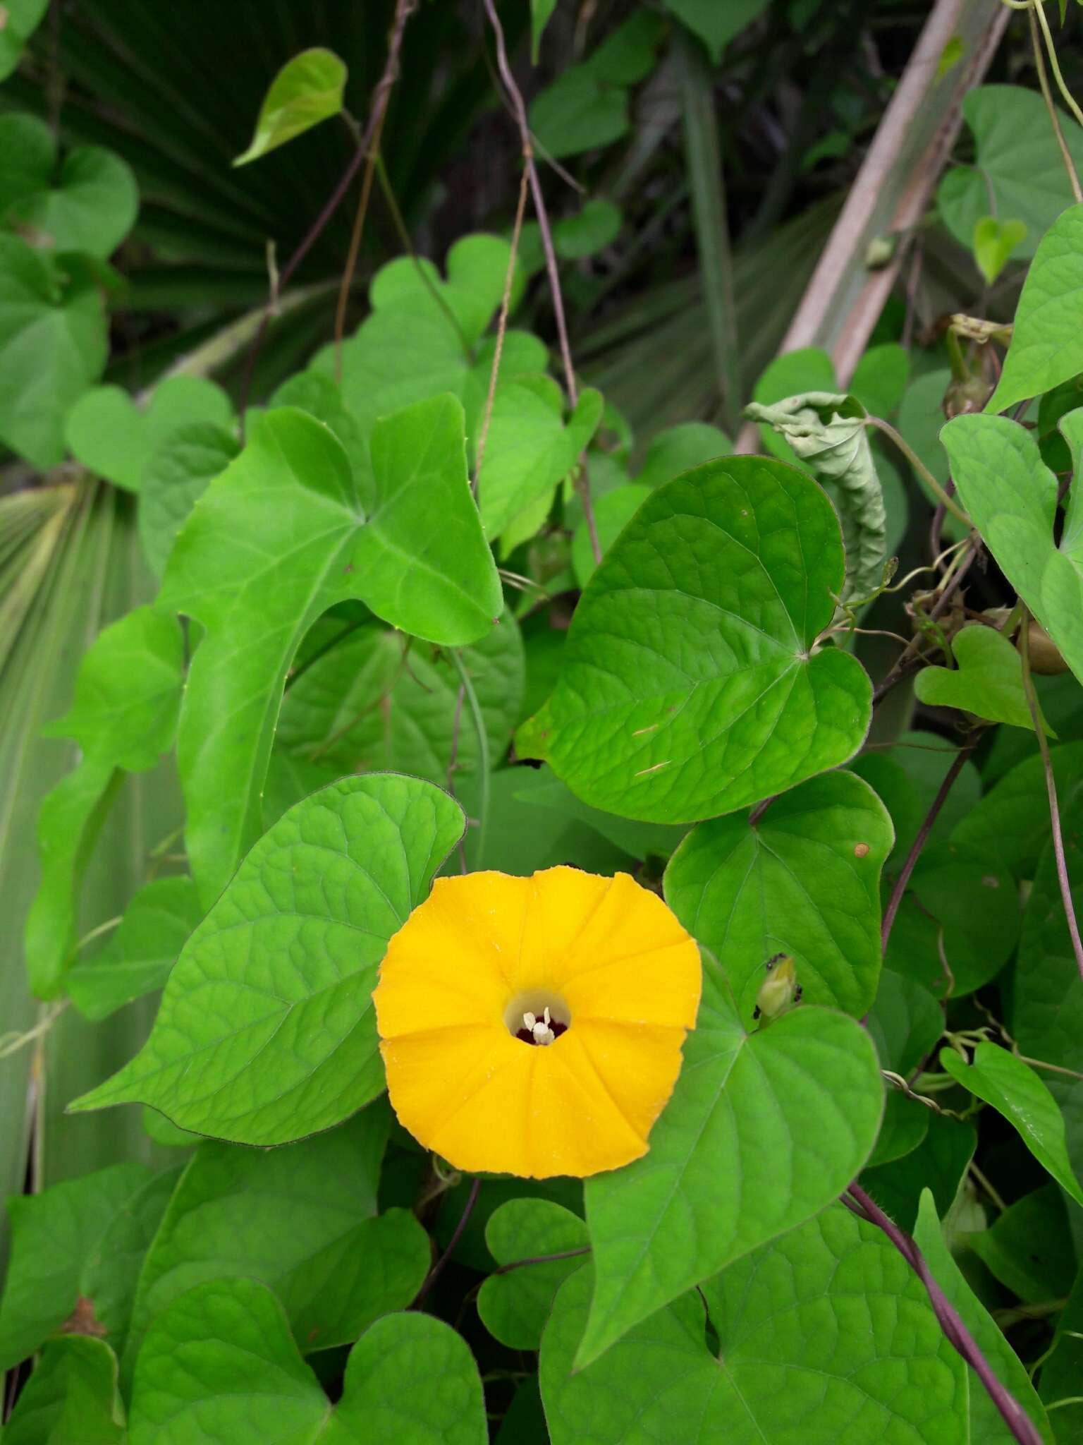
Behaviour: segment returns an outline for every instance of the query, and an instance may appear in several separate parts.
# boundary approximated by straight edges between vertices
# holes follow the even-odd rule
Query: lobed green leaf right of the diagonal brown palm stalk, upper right
[[[1030,259],[1071,204],[1045,103],[1037,90],[1024,85],[978,85],[963,95],[963,118],[973,131],[975,163],[944,172],[936,197],[940,217],[967,250],[982,217],[1021,221],[1027,231],[1014,254]],[[1076,165],[1083,168],[1083,136],[1063,113],[1061,130]]]

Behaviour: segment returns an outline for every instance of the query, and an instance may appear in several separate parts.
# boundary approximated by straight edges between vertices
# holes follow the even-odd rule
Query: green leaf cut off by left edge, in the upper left
[[[0,439],[42,470],[62,461],[64,419],[107,350],[90,272],[0,236]]]

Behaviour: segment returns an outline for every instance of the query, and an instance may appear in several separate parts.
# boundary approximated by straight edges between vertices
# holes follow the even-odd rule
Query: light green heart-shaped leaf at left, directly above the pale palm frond
[[[139,491],[143,468],[179,426],[228,426],[230,397],[201,376],[173,376],[156,386],[146,407],[121,386],[95,386],[71,409],[65,435],[75,457],[98,477]]]

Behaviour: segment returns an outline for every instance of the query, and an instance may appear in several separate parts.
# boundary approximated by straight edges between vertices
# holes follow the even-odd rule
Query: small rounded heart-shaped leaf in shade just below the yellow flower
[[[490,1217],[485,1243],[505,1272],[481,1286],[481,1322],[510,1350],[537,1350],[557,1289],[589,1254],[586,1225],[552,1199],[508,1199]]]

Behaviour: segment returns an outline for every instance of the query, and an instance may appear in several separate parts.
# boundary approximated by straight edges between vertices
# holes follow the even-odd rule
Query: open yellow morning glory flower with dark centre
[[[438,879],[374,1001],[400,1123],[456,1169],[592,1175],[647,1152],[700,962],[627,873]]]

